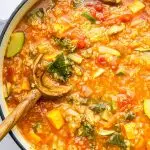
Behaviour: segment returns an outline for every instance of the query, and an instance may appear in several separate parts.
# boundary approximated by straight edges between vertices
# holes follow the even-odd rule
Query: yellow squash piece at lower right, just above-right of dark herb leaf
[[[125,129],[125,132],[126,132],[126,136],[127,138],[130,140],[130,139],[135,139],[136,138],[136,135],[135,135],[135,127],[136,127],[136,124],[131,122],[131,123],[127,123],[124,125],[124,129]]]

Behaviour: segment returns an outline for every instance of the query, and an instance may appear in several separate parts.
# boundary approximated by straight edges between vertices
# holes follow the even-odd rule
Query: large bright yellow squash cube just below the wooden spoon
[[[64,119],[63,116],[58,109],[53,109],[48,112],[47,117],[51,124],[56,128],[60,129],[64,125]]]

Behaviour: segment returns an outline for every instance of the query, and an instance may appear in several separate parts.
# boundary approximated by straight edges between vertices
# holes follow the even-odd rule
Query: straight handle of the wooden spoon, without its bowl
[[[16,125],[18,120],[35,105],[41,95],[38,89],[30,91],[25,99],[5,118],[0,125],[0,141]]]

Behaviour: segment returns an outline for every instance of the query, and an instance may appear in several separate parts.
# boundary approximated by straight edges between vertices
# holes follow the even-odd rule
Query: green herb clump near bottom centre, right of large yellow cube
[[[88,122],[82,122],[80,128],[77,130],[78,136],[87,137],[89,140],[94,139],[95,130],[94,126]]]

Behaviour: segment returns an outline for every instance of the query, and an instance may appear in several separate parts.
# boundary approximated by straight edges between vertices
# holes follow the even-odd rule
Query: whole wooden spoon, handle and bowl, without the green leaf
[[[33,79],[37,88],[32,89],[20,104],[5,118],[0,125],[0,141],[26,115],[26,113],[43,96],[60,97],[71,90],[71,86],[60,85],[53,81],[47,73],[36,75],[37,65],[43,55],[39,55],[33,66]]]

